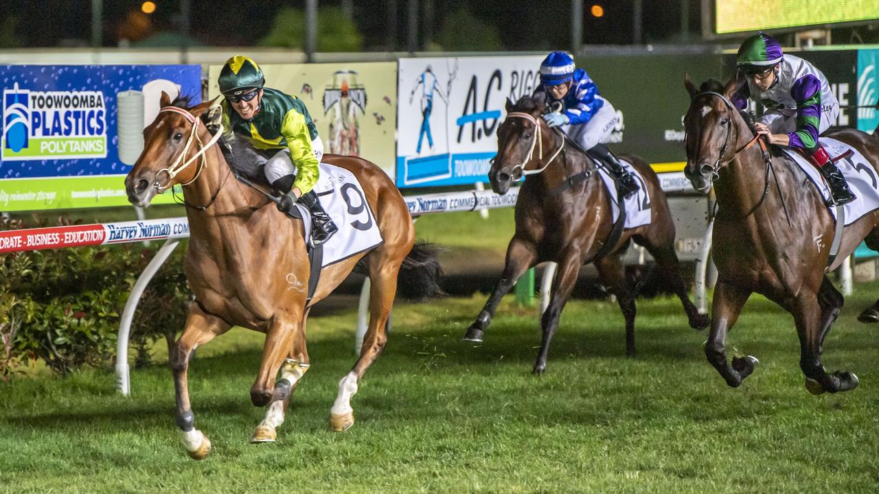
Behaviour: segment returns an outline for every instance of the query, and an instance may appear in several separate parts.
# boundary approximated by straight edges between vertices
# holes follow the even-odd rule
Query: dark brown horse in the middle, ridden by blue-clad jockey
[[[592,158],[570,142],[561,132],[546,126],[541,114],[547,110],[541,95],[523,97],[506,104],[506,120],[498,127],[498,156],[491,165],[491,188],[504,194],[512,182],[531,175],[519,188],[516,202],[516,231],[506,251],[504,273],[485,307],[468,328],[464,340],[482,342],[483,331],[491,322],[498,303],[528,268],[545,261],[558,263],[549,305],[543,313],[541,351],[534,363],[534,374],[547,366],[549,342],[556,334],[558,319],[577,281],[580,268],[593,262],[601,282],[616,295],[626,320],[626,352],[635,354],[635,295],[626,284],[620,262],[621,251],[630,239],[643,245],[657,261],[672,289],[684,304],[694,328],[708,326],[708,316],[687,297],[687,288],[678,272],[674,251],[674,222],[665,193],[656,173],[636,156],[625,156],[644,178],[639,192],[644,206],[650,207],[648,225],[623,230],[621,236],[605,246],[613,229],[611,196],[599,178]],[[565,145],[567,142],[568,145]],[[535,149],[538,152],[534,152]],[[650,201],[647,203],[647,201]]]

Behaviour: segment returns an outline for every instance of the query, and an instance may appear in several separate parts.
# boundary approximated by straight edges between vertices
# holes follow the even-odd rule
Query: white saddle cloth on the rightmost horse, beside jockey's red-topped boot
[[[827,154],[832,157],[833,162],[846,178],[848,187],[854,195],[858,196],[857,200],[843,206],[846,210],[846,226],[858,221],[858,218],[864,214],[879,208],[879,190],[877,190],[879,189],[879,177],[877,177],[875,169],[870,166],[867,158],[861,155],[857,149],[836,139],[821,137],[819,141],[824,144]],[[821,193],[821,197],[825,201],[830,199],[830,188],[821,177],[820,172],[800,153],[793,149],[782,149],[805,172],[811,183]],[[829,207],[828,209],[833,214],[833,218],[836,218],[836,208]]]

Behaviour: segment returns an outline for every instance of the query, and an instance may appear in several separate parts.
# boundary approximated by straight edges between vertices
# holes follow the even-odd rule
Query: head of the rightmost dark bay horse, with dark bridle
[[[706,193],[721,168],[736,153],[737,110],[730,98],[736,92],[737,83],[732,79],[724,86],[720,81],[708,79],[697,91],[690,76],[685,75],[684,86],[690,93],[690,108],[684,116],[684,175],[694,189]]]

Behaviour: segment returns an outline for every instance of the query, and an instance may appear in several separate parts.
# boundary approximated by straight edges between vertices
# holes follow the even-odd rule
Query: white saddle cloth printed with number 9
[[[323,243],[321,267],[368,251],[382,242],[375,216],[363,194],[363,187],[351,171],[329,163],[320,163],[320,175],[314,191],[323,210],[330,214],[338,231]],[[296,203],[302,215],[305,240],[311,238],[309,210]]]

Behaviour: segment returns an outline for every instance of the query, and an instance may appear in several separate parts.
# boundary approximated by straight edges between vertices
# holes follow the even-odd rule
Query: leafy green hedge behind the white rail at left
[[[69,223],[59,219],[58,224]],[[18,228],[21,222],[2,224],[2,229]],[[0,260],[0,379],[8,380],[34,360],[60,374],[110,363],[121,310],[156,250],[128,243],[5,255]],[[165,262],[138,305],[130,338],[135,365],[149,362],[149,347],[183,326],[190,300],[184,252],[178,249]]]

